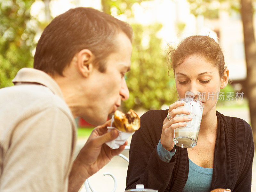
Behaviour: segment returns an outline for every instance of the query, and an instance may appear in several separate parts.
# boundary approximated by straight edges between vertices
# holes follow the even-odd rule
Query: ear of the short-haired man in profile
[[[77,67],[81,75],[88,77],[93,69],[94,56],[89,49],[83,49],[77,53]]]

